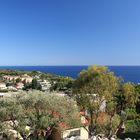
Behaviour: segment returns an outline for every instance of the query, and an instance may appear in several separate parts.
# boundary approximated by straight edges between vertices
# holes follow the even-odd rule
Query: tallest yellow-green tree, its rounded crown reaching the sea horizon
[[[106,106],[111,116],[115,114],[114,95],[118,91],[120,79],[104,66],[91,66],[80,73],[73,86],[73,95],[78,105],[88,112],[90,118],[89,134],[96,133],[98,117]],[[105,102],[105,103],[104,103]],[[110,126],[111,128],[111,126]]]

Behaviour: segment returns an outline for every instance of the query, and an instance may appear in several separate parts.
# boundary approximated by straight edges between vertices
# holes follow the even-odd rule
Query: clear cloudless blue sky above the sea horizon
[[[0,0],[0,65],[140,65],[140,0]]]

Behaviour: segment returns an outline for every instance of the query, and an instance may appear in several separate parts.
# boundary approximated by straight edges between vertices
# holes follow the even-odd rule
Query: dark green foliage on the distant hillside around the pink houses
[[[37,82],[37,79],[39,78],[40,80],[48,80],[51,83],[51,91],[63,91],[65,93],[71,93],[72,90],[72,84],[74,79],[70,77],[64,77],[64,76],[57,76],[57,75],[52,75],[49,73],[42,73],[38,71],[22,71],[22,70],[8,70],[8,69],[3,69],[0,70],[0,80],[2,80],[4,83],[7,83],[7,85],[12,85],[15,86],[16,83],[21,82],[21,79],[18,78],[13,81],[5,80],[2,77],[5,75],[9,76],[19,76],[22,77],[24,74],[29,75],[33,77],[32,83],[24,83],[24,90],[29,90],[29,89],[37,89],[41,90],[41,85]]]

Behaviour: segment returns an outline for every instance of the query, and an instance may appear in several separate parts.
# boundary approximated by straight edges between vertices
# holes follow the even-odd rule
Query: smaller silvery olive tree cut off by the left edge
[[[18,131],[20,132],[25,127],[24,115],[22,105],[15,97],[3,97],[0,99],[1,132],[9,134],[9,129],[16,130],[17,133]]]

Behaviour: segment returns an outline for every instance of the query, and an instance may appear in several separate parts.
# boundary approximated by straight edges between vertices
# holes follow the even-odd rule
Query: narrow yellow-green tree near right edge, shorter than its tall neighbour
[[[122,126],[126,126],[130,119],[136,119],[138,114],[136,113],[136,105],[139,101],[139,94],[134,84],[128,82],[123,83],[119,87],[119,91],[116,94],[117,101],[117,113],[121,117],[120,125],[118,126],[118,130],[121,130]],[[133,126],[131,126],[133,127]],[[122,130],[124,130],[123,127]],[[121,133],[116,131],[116,134],[119,136]]]

